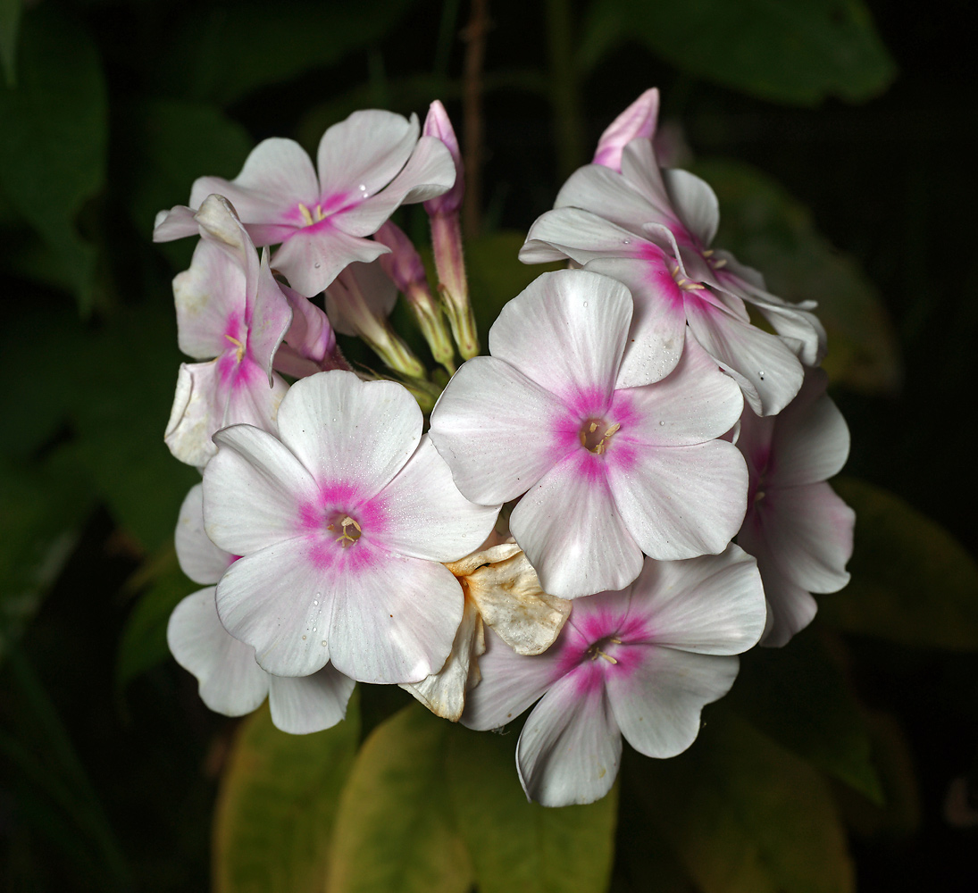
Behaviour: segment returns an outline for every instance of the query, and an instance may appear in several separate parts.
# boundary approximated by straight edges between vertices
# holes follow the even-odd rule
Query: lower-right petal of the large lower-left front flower
[[[377,550],[356,573],[337,576],[334,592],[329,641],[337,670],[360,682],[402,683],[444,666],[465,602],[444,564]]]

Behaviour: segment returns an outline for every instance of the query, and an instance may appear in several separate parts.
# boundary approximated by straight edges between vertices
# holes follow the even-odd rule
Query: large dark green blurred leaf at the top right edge
[[[865,102],[896,75],[861,0],[595,0],[582,33],[582,67],[637,39],[683,71],[790,105]]]

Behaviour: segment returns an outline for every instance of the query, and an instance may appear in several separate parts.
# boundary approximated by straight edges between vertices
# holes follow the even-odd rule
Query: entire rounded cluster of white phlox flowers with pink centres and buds
[[[654,90],[622,112],[532,225],[520,259],[568,269],[512,296],[487,355],[440,103],[423,127],[355,112],[315,167],[265,140],[160,212],[157,241],[200,238],[173,282],[196,362],[165,440],[202,473],[176,549],[205,588],[168,641],[208,707],[267,696],[304,734],[357,682],[479,730],[532,706],[527,795],[587,803],[622,737],[685,750],[736,655],[787,644],[812,593],[846,584],[854,518],[826,480],[849,440],[822,326],[711,246],[716,197],[659,166],[657,112]],[[437,288],[389,220],[411,202]],[[440,370],[391,327],[398,293]],[[337,332],[378,370],[353,369]]]

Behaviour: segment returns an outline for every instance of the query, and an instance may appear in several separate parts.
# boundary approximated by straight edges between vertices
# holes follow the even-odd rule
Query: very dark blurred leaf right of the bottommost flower
[[[866,719],[814,630],[744,654],[729,700],[759,731],[882,802]]]

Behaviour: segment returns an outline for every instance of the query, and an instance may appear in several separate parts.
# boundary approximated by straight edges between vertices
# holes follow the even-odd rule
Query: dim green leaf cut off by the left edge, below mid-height
[[[61,573],[91,505],[87,481],[54,463],[0,464],[0,658]]]

